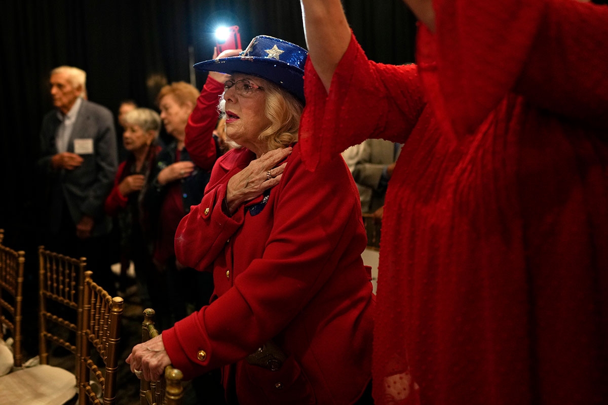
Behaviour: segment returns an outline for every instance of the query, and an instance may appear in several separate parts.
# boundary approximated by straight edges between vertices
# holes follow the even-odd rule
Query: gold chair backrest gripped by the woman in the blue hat
[[[142,342],[159,335],[154,326],[154,310],[147,308],[143,311]],[[165,375],[159,381],[141,379],[139,387],[140,405],[181,405],[184,396],[182,386],[184,374],[172,366],[165,367]]]

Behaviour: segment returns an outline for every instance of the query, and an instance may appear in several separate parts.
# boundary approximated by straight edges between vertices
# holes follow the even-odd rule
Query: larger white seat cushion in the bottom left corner
[[[63,405],[77,392],[76,376],[40,364],[1,376],[0,392],[2,405]]]

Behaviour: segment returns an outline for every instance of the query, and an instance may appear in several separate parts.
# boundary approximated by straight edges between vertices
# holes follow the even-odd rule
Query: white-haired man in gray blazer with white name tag
[[[72,257],[87,257],[98,284],[112,290],[109,270],[111,219],[103,202],[118,166],[114,117],[86,100],[86,73],[71,66],[50,72],[55,109],[40,132],[41,199],[45,246]],[[96,271],[97,270],[97,271]]]

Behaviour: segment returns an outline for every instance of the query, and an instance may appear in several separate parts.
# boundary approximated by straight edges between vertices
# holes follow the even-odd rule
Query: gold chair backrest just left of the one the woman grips
[[[78,404],[115,404],[124,302],[120,297],[112,298],[91,276],[92,271],[85,271],[82,324],[78,331]],[[98,398],[91,381],[100,387],[103,398]]]

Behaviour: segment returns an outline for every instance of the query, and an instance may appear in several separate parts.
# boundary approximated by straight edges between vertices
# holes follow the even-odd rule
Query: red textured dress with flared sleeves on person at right
[[[434,0],[418,67],[308,62],[309,168],[405,142],[387,191],[376,404],[608,403],[608,9]]]

